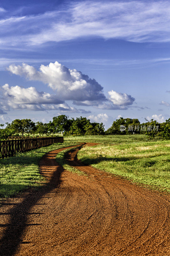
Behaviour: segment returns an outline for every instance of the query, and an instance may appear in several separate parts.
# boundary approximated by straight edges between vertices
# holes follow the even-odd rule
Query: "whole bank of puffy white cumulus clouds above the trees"
[[[10,109],[61,110],[85,114],[91,111],[70,107],[65,101],[71,100],[76,106],[94,106],[100,109],[128,109],[135,101],[131,95],[113,90],[109,91],[109,97],[106,97],[103,87],[95,79],[76,69],[66,68],[57,61],[47,66],[41,65],[39,70],[25,63],[22,66],[10,65],[7,69],[12,74],[23,76],[28,80],[41,81],[55,93],[38,92],[33,86],[24,88],[4,84],[0,88],[4,99],[1,114]]]

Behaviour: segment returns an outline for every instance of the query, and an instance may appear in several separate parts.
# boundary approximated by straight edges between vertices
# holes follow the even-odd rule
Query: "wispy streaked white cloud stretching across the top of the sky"
[[[38,45],[85,36],[169,42],[169,23],[169,1],[72,1],[62,10],[0,20],[0,44]]]

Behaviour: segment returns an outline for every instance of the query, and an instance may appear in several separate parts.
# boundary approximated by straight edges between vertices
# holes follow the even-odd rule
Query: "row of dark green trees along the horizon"
[[[68,116],[54,116],[53,121],[49,123],[33,122],[31,119],[15,119],[11,123],[0,124],[0,139],[6,139],[9,136],[39,134],[40,136],[50,136],[55,133],[61,133],[64,136],[82,136],[82,135],[115,135],[115,134],[146,134],[149,138],[162,137],[170,139],[170,118],[164,123],[158,123],[151,119],[145,119],[145,123],[140,123],[138,119],[120,117],[113,122],[110,128],[105,131],[103,123],[90,122],[86,117],[77,117],[69,119]],[[121,130],[120,127],[123,127]]]

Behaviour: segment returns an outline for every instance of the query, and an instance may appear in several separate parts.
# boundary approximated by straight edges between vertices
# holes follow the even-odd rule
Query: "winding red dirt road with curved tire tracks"
[[[0,255],[170,255],[170,195],[85,166],[78,149],[67,159],[87,176],[65,171],[63,149],[41,160],[40,191],[1,206]]]

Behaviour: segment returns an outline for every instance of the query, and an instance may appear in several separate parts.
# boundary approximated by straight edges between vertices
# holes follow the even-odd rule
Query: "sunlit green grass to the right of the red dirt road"
[[[170,140],[82,148],[85,164],[170,192]]]

